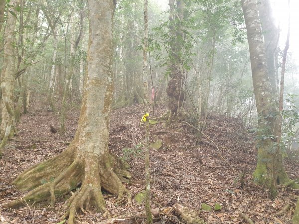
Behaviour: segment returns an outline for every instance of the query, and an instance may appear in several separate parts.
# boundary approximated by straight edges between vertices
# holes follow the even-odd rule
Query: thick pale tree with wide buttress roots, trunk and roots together
[[[114,171],[108,151],[109,115],[113,94],[112,74],[112,18],[113,0],[89,0],[89,45],[86,82],[84,85],[78,129],[74,140],[60,155],[37,164],[18,176],[14,184],[21,190],[31,190],[23,200],[15,200],[6,207],[21,206],[77,190],[67,201],[69,223],[75,221],[78,209],[84,211],[94,201],[105,209],[101,188],[118,195],[131,195]],[[116,169],[120,171],[119,169]],[[122,175],[127,173],[122,172]],[[54,180],[51,180],[53,179]],[[41,185],[41,183],[44,183]]]

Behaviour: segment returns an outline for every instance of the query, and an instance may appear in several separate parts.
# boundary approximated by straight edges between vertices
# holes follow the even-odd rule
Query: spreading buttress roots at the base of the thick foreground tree
[[[69,224],[73,224],[77,212],[81,210],[86,213],[85,210],[88,210],[91,202],[105,216],[110,217],[105,208],[101,188],[117,195],[116,203],[122,204],[126,201],[131,203],[131,193],[123,186],[114,172],[109,155],[103,154],[100,159],[98,155],[91,153],[90,155],[76,156],[76,159],[73,159],[71,155],[74,155],[74,151],[71,149],[72,147],[69,147],[60,155],[29,168],[16,178],[14,184],[17,187],[32,190],[22,199],[13,200],[3,207],[15,208],[49,198],[51,206],[54,206],[57,196],[71,192],[72,196],[64,204],[67,211],[62,219],[68,217]],[[129,173],[121,171],[121,169],[118,169],[118,173],[130,177]],[[49,176],[53,179],[47,183],[41,182],[41,180],[48,180]],[[82,183],[80,189],[73,193],[72,190],[77,188],[80,183]],[[126,200],[123,198],[125,195],[127,196]]]

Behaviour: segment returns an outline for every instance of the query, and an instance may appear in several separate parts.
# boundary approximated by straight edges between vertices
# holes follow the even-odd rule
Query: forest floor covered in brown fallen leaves
[[[155,117],[165,111],[165,106],[157,106]],[[142,144],[145,128],[140,125],[142,116],[142,105],[117,109],[111,114],[109,147],[132,166],[132,182],[125,185],[133,196],[144,189]],[[0,205],[22,196],[11,185],[18,174],[67,147],[75,134],[78,117],[78,107],[68,112],[67,131],[62,137],[50,132],[50,124],[58,127],[59,115],[49,112],[47,106],[32,106],[30,112],[21,117],[17,124],[17,135],[8,142],[5,156],[0,160]],[[150,126],[151,142],[162,141],[160,149],[150,150],[152,208],[171,207],[178,202],[200,210],[200,216],[209,224],[246,223],[240,212],[256,224],[291,224],[290,210],[282,215],[277,212],[287,204],[294,207],[299,191],[280,188],[278,197],[271,200],[263,186],[253,183],[251,175],[256,165],[257,152],[248,128],[240,120],[211,115],[207,119],[205,134],[209,139],[203,137],[202,143],[196,146],[194,130],[185,123],[174,123],[167,127],[164,123]],[[287,158],[285,164],[289,176],[298,178],[299,159]],[[237,177],[246,165],[242,189]],[[144,206],[137,205],[134,199],[131,207],[114,205],[114,197],[109,194],[105,200],[112,216],[128,216],[144,211]],[[19,209],[0,208],[0,223],[58,223],[64,213],[63,201],[63,198],[58,199],[54,208],[48,203],[24,205]],[[210,205],[212,210],[202,210],[203,203]],[[222,205],[222,208],[213,210],[215,203]],[[84,224],[93,224],[103,218],[100,213],[91,210],[89,214],[79,214],[78,220]]]

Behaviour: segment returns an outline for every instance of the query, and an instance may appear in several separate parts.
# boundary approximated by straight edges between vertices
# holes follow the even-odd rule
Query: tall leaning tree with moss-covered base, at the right
[[[250,52],[254,95],[258,112],[258,162],[253,174],[254,180],[270,189],[272,197],[276,196],[277,183],[293,188],[299,185],[288,178],[282,163],[282,154],[277,153],[275,134],[278,125],[278,108],[267,69],[261,23],[255,0],[242,0],[242,8],[247,29]]]

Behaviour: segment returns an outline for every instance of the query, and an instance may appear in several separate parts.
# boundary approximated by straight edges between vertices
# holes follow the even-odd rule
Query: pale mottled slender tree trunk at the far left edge
[[[17,14],[15,7],[18,5],[17,0],[11,0],[12,8],[9,10]],[[4,31],[4,59],[1,72],[1,89],[2,89],[2,122],[0,127],[0,155],[3,153],[5,144],[10,136],[14,134],[14,107],[13,107],[13,91],[14,91],[14,72],[15,72],[15,42],[14,29],[16,17],[12,13],[7,13],[7,22]]]

